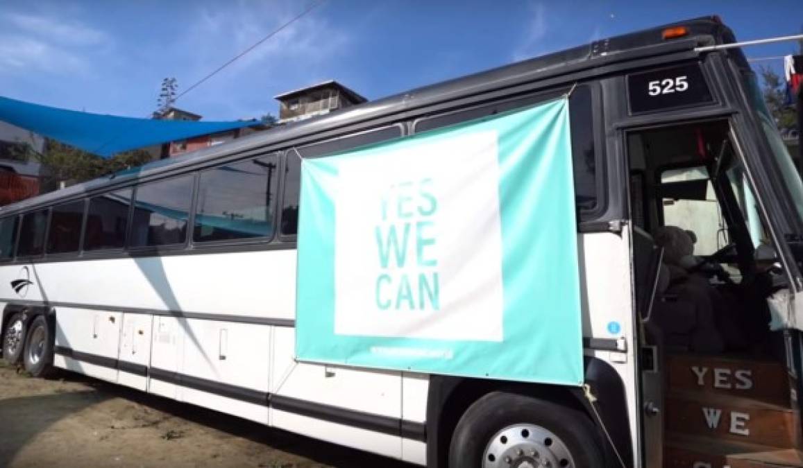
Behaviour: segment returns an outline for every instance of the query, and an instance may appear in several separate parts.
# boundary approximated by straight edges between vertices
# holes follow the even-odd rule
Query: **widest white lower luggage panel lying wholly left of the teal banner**
[[[185,333],[181,399],[267,425],[270,327],[199,319],[179,324]]]

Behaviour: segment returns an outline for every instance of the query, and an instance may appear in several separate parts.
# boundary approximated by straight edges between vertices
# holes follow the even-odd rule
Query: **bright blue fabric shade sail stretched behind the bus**
[[[198,122],[108,116],[51,108],[2,96],[0,120],[101,157],[259,124],[258,120]]]

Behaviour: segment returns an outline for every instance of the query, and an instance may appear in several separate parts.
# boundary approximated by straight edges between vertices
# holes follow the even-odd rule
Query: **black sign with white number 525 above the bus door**
[[[650,112],[713,102],[699,64],[635,73],[627,77],[630,111]]]

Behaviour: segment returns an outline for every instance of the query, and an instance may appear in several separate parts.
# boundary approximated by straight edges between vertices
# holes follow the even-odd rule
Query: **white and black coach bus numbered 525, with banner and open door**
[[[677,22],[3,207],[3,358],[422,466],[803,466],[803,186],[734,44]]]

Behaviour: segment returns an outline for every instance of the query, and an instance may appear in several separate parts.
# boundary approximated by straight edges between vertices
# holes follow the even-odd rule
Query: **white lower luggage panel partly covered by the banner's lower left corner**
[[[275,328],[271,424],[327,442],[401,458],[401,437],[392,433],[389,424],[396,421],[398,427],[402,417],[401,373],[297,362],[295,342],[294,328]],[[292,412],[283,410],[289,406],[295,407]],[[385,426],[389,430],[331,422],[355,418],[363,421],[364,427]]]

